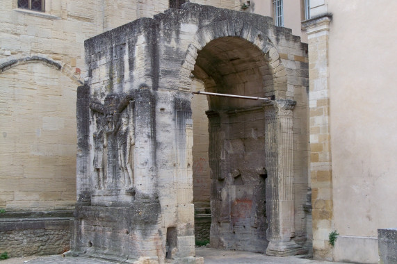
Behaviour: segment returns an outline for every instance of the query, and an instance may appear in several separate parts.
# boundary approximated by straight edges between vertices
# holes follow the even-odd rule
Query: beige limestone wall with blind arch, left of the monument
[[[3,1],[0,64],[38,56],[0,72],[0,208],[52,211],[76,201],[76,88],[83,42],[102,32],[98,1],[46,1],[46,12]],[[90,6],[90,8],[87,8]]]

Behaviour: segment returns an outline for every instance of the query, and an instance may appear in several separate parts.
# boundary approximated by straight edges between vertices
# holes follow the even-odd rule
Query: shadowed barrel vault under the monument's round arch
[[[197,52],[193,74],[206,92],[265,97],[274,95],[273,71],[266,54],[237,37],[218,38]],[[211,97],[209,110],[261,106],[262,101]]]

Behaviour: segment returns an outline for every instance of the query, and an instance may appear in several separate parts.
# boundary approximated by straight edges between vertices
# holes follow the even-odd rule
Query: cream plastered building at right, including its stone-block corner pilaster
[[[396,76],[389,60],[396,56],[389,44],[397,37],[396,3],[311,3],[312,19],[303,25],[314,256],[377,263],[377,230],[396,226]],[[380,19],[372,21],[373,14]],[[377,58],[364,55],[374,50]],[[339,233],[335,247],[328,243],[332,231]]]

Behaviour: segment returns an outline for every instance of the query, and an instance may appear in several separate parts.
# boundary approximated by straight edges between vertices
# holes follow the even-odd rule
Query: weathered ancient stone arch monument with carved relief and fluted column
[[[307,46],[291,30],[270,17],[186,3],[85,46],[74,254],[202,261],[195,258],[193,78],[207,92],[272,99],[209,98],[211,246],[302,251],[305,222],[295,215],[305,215],[307,192],[307,172],[297,165],[307,151],[299,143],[307,143]]]

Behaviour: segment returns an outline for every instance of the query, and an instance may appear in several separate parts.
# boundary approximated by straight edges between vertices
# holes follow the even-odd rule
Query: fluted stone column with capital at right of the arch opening
[[[266,211],[269,240],[266,254],[289,256],[300,246],[295,234],[293,206],[293,131],[292,100],[270,101],[265,109]]]

